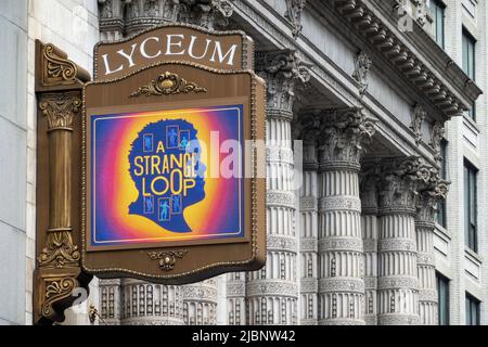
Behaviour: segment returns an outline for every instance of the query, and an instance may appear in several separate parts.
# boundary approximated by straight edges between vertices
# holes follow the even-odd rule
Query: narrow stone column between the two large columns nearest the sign
[[[318,318],[318,147],[320,119],[306,115],[295,128],[304,141],[304,178],[300,187],[300,325],[317,325]]]

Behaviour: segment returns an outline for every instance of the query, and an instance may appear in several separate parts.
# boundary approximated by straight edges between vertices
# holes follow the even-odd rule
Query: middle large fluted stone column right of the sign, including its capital
[[[325,112],[321,120],[319,324],[364,324],[358,174],[374,127],[357,108]]]

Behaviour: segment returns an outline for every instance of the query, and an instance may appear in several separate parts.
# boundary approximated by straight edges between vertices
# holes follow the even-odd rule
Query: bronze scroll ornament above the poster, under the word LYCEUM
[[[163,75],[159,75],[156,80],[153,80],[151,83],[140,87],[138,90],[132,92],[130,97],[140,97],[142,94],[146,97],[179,93],[187,94],[189,92],[206,93],[207,89],[198,87],[195,82],[189,82],[177,74],[166,72]]]

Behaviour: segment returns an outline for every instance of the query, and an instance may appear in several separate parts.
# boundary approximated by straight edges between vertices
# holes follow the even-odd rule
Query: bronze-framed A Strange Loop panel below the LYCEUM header
[[[262,267],[259,77],[162,63],[84,99],[85,271],[182,284]]]

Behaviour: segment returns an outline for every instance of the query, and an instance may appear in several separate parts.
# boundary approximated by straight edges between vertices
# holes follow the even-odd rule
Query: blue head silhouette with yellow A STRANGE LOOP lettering
[[[146,125],[132,142],[130,177],[139,192],[129,214],[172,232],[191,232],[184,209],[205,198],[205,165],[194,126],[183,119]]]

